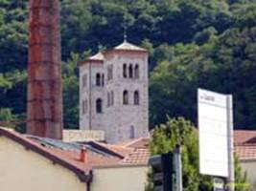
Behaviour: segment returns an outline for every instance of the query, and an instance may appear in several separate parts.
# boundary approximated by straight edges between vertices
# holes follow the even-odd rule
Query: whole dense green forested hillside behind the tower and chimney
[[[66,128],[78,128],[78,64],[99,45],[150,50],[151,127],[197,121],[197,88],[233,94],[236,128],[256,129],[256,1],[62,0]],[[0,0],[0,121],[25,118],[28,1]]]

